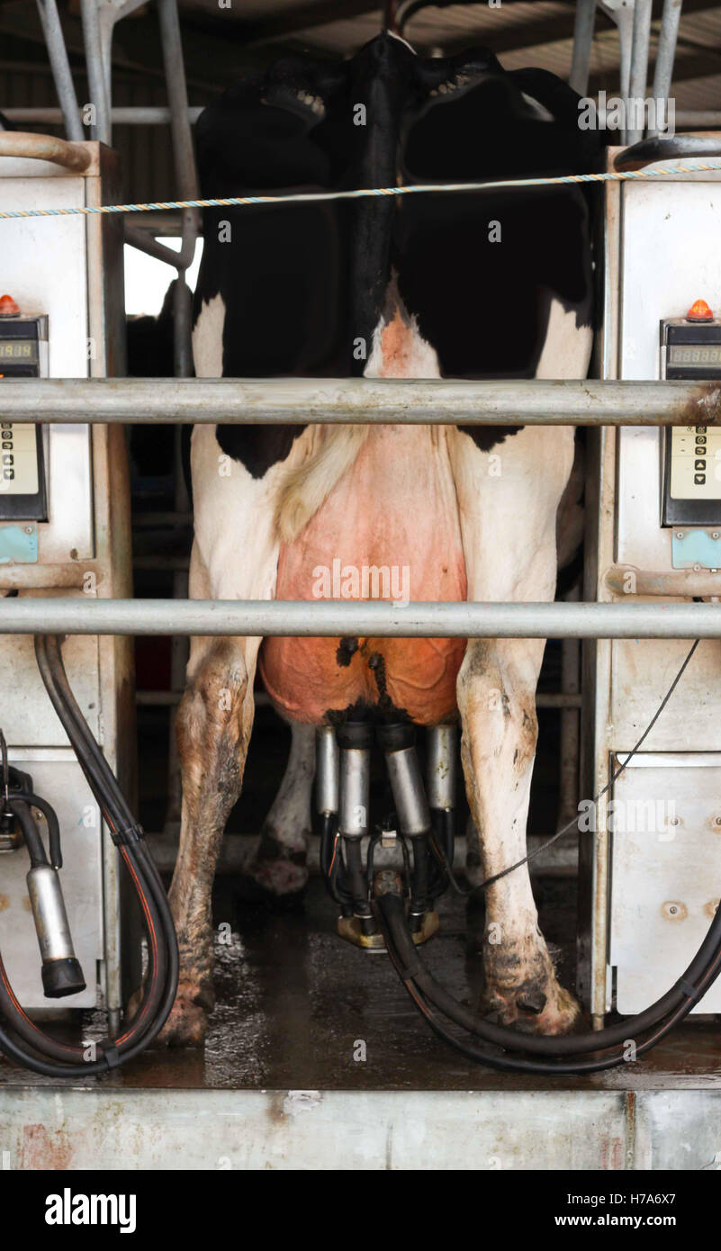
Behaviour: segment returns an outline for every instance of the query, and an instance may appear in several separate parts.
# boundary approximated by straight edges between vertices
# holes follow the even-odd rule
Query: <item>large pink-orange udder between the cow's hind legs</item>
[[[373,572],[376,570],[376,573]],[[453,479],[442,432],[376,427],[348,473],[299,538],[283,545],[277,599],[464,600],[466,569]],[[294,721],[384,693],[421,724],[456,709],[463,639],[268,638],[260,671],[274,703]],[[340,662],[345,663],[340,663]]]

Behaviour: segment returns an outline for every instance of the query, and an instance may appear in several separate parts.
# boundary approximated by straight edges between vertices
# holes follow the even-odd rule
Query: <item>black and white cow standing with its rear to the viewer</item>
[[[247,76],[205,110],[198,149],[207,196],[548,175],[596,159],[577,98],[553,75],[504,73],[484,49],[422,59],[388,34],[340,64],[299,58]],[[207,210],[204,236],[199,377],[587,373],[591,244],[577,188]],[[521,420],[199,425],[190,594],[312,599],[319,570],[339,559],[407,567],[414,600],[550,600],[572,462],[572,428]],[[521,858],[542,654],[534,639],[193,639],[178,719],[182,975],[169,1041],[200,1041],[213,1002],[210,889],[257,664],[294,726],[254,869],[282,892],[303,873],[313,727],[329,716],[423,726],[459,714],[483,869]],[[504,1022],[568,1030],[577,1007],[556,981],[526,868],[488,891],[487,926],[487,1006]]]

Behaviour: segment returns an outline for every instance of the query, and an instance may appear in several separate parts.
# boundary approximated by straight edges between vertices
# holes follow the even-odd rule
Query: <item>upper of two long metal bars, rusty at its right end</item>
[[[721,384],[397,378],[19,378],[11,422],[716,425]]]

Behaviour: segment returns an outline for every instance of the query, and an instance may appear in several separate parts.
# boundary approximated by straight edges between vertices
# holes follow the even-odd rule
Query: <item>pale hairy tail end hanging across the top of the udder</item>
[[[318,452],[292,469],[280,489],[275,525],[292,543],[350,468],[369,433],[368,425],[327,425]]]

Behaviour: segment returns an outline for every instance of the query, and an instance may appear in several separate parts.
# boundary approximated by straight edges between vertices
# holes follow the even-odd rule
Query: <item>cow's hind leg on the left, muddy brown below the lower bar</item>
[[[193,599],[272,599],[278,569],[274,502],[284,464],[253,478],[239,463],[220,475],[213,427],[193,433]],[[210,894],[225,822],[243,781],[253,728],[260,638],[194,638],[176,722],[183,774],[180,848],[170,903],[180,985],[164,1038],[199,1043],[213,1003]]]

